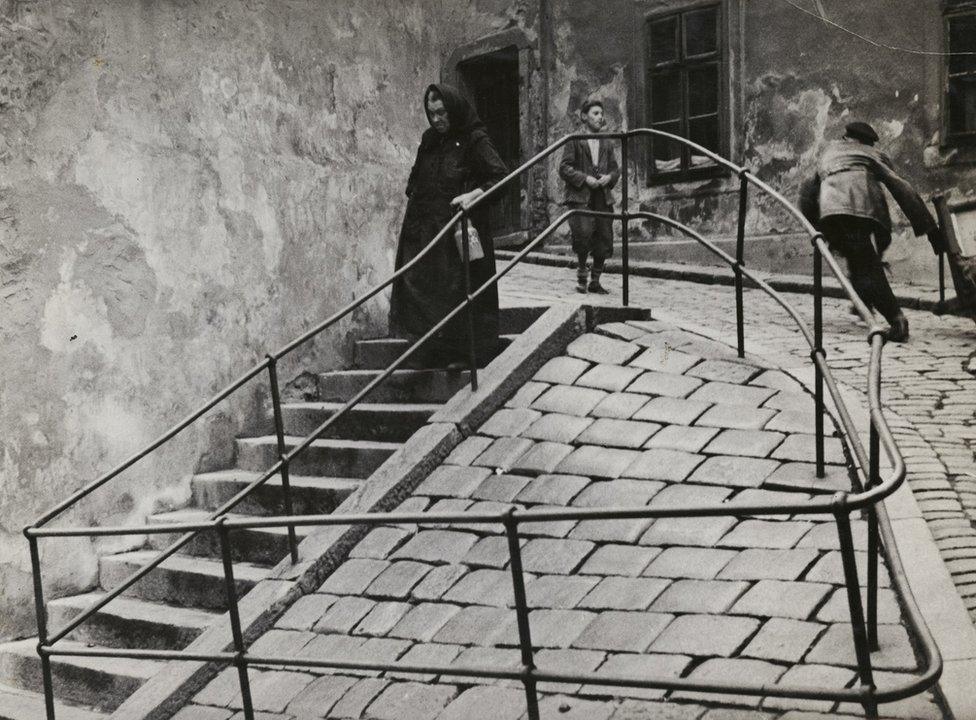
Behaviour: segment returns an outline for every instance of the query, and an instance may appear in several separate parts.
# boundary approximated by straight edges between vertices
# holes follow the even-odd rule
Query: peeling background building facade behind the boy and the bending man
[[[510,76],[521,83],[521,104],[507,116],[521,118],[523,158],[543,138],[575,130],[575,110],[597,97],[608,129],[688,137],[795,198],[822,144],[858,119],[878,130],[895,166],[923,194],[954,200],[976,192],[976,56],[965,55],[976,51],[974,15],[976,3],[958,0],[539,0],[515,14],[510,3],[475,2],[462,25],[470,40],[460,39],[443,72],[464,86],[467,64],[491,53],[517,56]],[[492,30],[503,18],[509,27]],[[734,236],[737,178],[676,144],[636,145],[631,197],[641,209],[712,238]],[[548,204],[539,200],[542,185]],[[560,192],[554,169],[522,191],[526,220],[532,208],[537,220],[551,216]],[[932,286],[928,244],[897,212],[894,220],[893,278]],[[756,198],[747,261],[809,272],[809,243],[797,230]],[[660,228],[633,239],[658,241],[639,248],[651,259],[707,258]]]

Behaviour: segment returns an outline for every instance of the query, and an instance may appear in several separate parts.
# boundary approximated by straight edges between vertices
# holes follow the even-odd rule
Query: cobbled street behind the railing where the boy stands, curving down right
[[[826,272],[826,271],[825,271]],[[608,296],[574,292],[575,271],[525,265],[502,282],[503,297],[541,302],[619,304],[620,276],[604,276]],[[653,278],[632,278],[631,304],[655,317],[721,333],[735,342],[731,287]],[[812,322],[813,298],[784,294]],[[746,290],[746,350],[760,343],[781,367],[809,365],[809,349],[796,325],[768,295]],[[838,381],[866,385],[866,329],[848,303],[824,301],[824,347]],[[911,339],[884,351],[882,403],[905,456],[908,482],[976,622],[976,326],[966,318],[906,310]],[[770,350],[772,349],[772,352]],[[777,357],[771,357],[777,353]]]

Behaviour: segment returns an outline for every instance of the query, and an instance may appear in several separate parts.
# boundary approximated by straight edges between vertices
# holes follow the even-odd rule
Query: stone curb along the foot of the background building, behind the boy
[[[502,258],[511,258],[514,255],[514,252],[509,251],[498,252],[498,256]],[[576,260],[567,255],[534,252],[527,255],[522,262],[568,268],[575,267]],[[623,271],[622,263],[619,260],[608,260],[604,270],[605,272],[619,275]],[[704,285],[732,285],[735,282],[735,276],[731,269],[709,267],[707,265],[631,261],[629,263],[629,270],[631,275],[637,277],[684,280],[686,282],[696,282]],[[758,270],[753,270],[752,272],[769,283],[773,289],[780,292],[813,294],[813,278],[807,275],[773,274]],[[756,287],[748,279],[745,280],[744,286],[747,288]],[[843,291],[840,284],[830,276],[830,271],[826,268],[824,269],[823,289],[824,297],[847,298],[847,294]],[[894,285],[892,286],[892,290],[895,291],[895,297],[902,307],[913,310],[927,310],[936,314],[967,316],[964,309],[960,306],[958,299],[955,297],[947,298],[945,307],[940,309],[939,293],[937,290],[926,290],[911,285]]]

